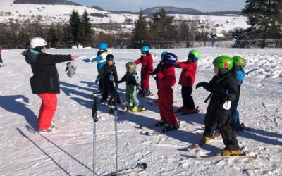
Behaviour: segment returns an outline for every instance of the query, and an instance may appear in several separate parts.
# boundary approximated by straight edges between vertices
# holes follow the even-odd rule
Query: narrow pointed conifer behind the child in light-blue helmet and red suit
[[[138,20],[134,23],[135,29],[133,30],[133,41],[137,41],[137,43],[133,44],[133,48],[140,48],[143,44],[143,40],[149,38],[149,30],[148,23],[146,21],[146,17],[143,16],[142,9],[140,10],[140,15]]]

